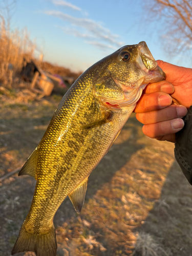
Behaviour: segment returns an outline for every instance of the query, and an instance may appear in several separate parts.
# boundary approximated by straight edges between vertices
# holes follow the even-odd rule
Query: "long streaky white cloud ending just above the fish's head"
[[[53,0],[53,1],[56,1],[56,0]],[[118,38],[119,38],[118,35],[112,34],[109,29],[104,28],[100,23],[97,23],[92,19],[73,17],[68,14],[62,13],[60,11],[44,11],[44,13],[47,15],[51,15],[54,17],[58,17],[62,20],[65,20],[66,22],[71,23],[73,26],[80,27],[81,29],[84,29],[88,32],[88,33],[84,34],[84,33],[79,32],[78,30],[74,30],[74,31],[72,31],[72,34],[74,36],[97,38],[97,39],[99,39],[99,41],[104,40],[104,41],[110,43],[110,45],[114,45],[116,47],[120,47],[123,44],[122,42],[120,42],[118,40]],[[69,31],[68,31],[68,33],[69,33]],[[95,44],[95,42],[94,42],[93,45],[95,45],[95,46],[97,45],[97,47],[98,47],[99,42],[97,44]],[[103,44],[103,46],[104,46],[104,44]],[[112,48],[112,47],[113,46],[108,46],[108,48]]]

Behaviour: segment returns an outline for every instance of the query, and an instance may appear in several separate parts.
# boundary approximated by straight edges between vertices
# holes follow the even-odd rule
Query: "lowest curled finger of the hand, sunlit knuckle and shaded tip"
[[[184,126],[184,121],[181,118],[173,120],[163,121],[159,123],[145,124],[143,125],[143,133],[150,138],[159,138],[169,134],[175,134],[179,132]]]

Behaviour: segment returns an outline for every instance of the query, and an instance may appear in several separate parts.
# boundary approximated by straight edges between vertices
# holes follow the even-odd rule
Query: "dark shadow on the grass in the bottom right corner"
[[[152,234],[168,255],[191,256],[191,221],[192,186],[174,161],[161,189],[160,198],[148,213],[144,224],[134,232]],[[165,254],[161,251],[158,255]]]

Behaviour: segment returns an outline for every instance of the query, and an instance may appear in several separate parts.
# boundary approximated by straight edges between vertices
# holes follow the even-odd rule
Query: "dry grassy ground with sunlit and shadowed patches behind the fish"
[[[0,98],[1,177],[25,163],[60,99]],[[0,183],[0,256],[11,254],[34,187],[32,177],[18,174]],[[144,136],[133,114],[92,172],[81,214],[69,198],[56,212],[57,256],[192,256],[191,221],[192,186],[174,144]]]

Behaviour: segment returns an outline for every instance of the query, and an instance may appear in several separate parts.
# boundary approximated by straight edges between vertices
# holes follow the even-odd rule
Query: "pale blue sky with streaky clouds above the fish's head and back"
[[[171,58],[164,52],[162,23],[145,22],[143,12],[141,0],[17,0],[11,27],[27,27],[44,60],[74,71],[143,40],[155,59],[191,68],[183,54]]]

